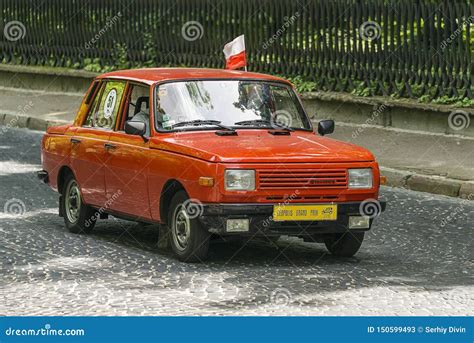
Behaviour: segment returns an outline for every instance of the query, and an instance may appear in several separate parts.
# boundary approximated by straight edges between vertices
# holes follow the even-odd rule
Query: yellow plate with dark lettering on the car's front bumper
[[[273,220],[337,220],[337,205],[275,205]]]

